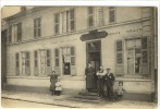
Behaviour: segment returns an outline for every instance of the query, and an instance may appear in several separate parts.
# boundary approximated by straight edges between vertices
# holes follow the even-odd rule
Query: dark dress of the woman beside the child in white
[[[57,74],[51,74],[50,75],[50,92],[54,92],[57,80],[58,80]]]

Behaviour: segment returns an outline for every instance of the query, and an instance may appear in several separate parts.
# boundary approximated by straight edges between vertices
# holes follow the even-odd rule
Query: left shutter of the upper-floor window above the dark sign
[[[94,26],[94,8],[89,7],[88,8],[88,27],[93,27]]]

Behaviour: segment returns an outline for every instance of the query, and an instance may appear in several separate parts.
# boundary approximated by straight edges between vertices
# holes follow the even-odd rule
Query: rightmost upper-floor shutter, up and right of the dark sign
[[[109,23],[115,22],[115,8],[110,7],[109,8]]]

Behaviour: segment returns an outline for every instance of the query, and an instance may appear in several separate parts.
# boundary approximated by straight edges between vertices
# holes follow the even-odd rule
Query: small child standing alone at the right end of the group
[[[123,88],[123,82],[119,82],[119,86],[118,86],[118,90],[116,90],[116,94],[118,94],[118,100],[120,100],[123,96],[123,94],[126,93],[126,90]]]

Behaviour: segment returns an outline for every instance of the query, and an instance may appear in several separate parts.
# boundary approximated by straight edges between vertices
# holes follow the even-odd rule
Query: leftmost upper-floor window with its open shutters
[[[11,31],[11,28],[10,28],[10,31]],[[11,32],[9,32],[9,33],[11,33]],[[12,36],[9,34],[9,41],[11,41],[11,40],[13,40],[14,43],[22,40],[22,23],[14,24],[12,26]]]

